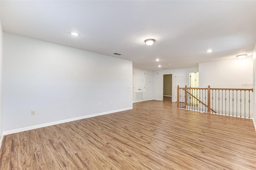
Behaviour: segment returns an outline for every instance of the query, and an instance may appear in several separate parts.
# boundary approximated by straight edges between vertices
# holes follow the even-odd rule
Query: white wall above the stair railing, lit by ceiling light
[[[199,87],[252,88],[252,57],[199,63]]]

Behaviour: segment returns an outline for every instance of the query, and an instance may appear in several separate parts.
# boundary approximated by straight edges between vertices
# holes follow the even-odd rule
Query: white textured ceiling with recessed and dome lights
[[[252,55],[256,42],[256,1],[1,0],[0,5],[4,32],[127,59],[141,69]],[[148,38],[154,45],[144,43]],[[212,53],[206,53],[209,48]]]

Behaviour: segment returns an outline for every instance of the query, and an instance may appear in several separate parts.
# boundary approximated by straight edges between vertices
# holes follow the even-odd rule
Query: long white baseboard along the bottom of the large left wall
[[[7,131],[3,132],[3,135],[23,132],[23,131],[26,131],[26,130],[32,130],[32,129],[36,129],[36,128],[48,127],[48,126],[52,126],[52,125],[58,125],[58,124],[61,124],[61,123],[77,121],[77,120],[80,120],[80,119],[86,119],[86,118],[96,117],[96,116],[100,116],[100,115],[107,115],[107,114],[110,114],[110,113],[116,113],[116,112],[126,111],[126,110],[130,110],[130,109],[132,109],[132,107],[128,107],[128,108],[125,108],[125,109],[119,109],[119,110],[115,110],[115,111],[96,113],[96,114],[86,115],[86,116],[82,116],[82,117],[75,117],[75,118],[65,119],[65,120],[56,121],[56,122],[44,123],[44,124],[30,126],[30,127],[18,128],[18,129],[14,129],[14,130],[7,130]]]

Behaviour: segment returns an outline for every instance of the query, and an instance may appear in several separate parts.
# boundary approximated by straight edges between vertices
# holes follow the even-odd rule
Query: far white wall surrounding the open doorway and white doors
[[[175,75],[176,73],[185,73],[185,83],[189,86],[189,73],[198,72],[198,67],[185,67],[178,69],[166,69],[153,71],[153,97],[155,100],[163,100],[163,75],[172,74],[172,101],[175,102],[176,99],[176,87],[175,87]],[[200,73],[199,73],[200,74]],[[200,81],[200,79],[199,79]]]

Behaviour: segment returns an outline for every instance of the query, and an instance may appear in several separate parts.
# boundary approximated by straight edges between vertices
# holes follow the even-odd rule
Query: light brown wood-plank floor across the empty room
[[[4,136],[1,170],[255,170],[251,119],[145,101],[132,110]]]

